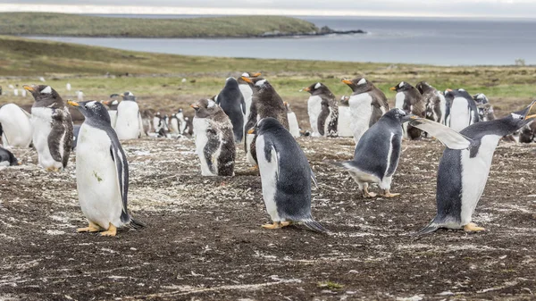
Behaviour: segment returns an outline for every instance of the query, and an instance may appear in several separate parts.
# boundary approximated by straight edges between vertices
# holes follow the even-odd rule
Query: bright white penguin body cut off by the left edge
[[[30,114],[18,105],[7,104],[0,107],[0,138],[4,147],[29,147],[33,132],[30,117]]]

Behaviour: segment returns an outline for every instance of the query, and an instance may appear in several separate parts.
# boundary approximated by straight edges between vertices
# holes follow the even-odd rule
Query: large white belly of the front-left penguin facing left
[[[86,123],[80,127],[76,152],[76,184],[80,208],[89,222],[108,229],[121,227],[122,199],[117,168],[104,130]]]

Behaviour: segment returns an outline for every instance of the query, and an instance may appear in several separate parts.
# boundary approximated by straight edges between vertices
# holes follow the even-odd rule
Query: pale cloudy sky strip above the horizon
[[[536,0],[0,0],[0,12],[534,18]]]

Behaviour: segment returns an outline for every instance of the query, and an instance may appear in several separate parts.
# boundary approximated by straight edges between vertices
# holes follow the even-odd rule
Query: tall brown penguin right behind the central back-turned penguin
[[[277,119],[285,129],[289,130],[287,108],[283,104],[281,96],[277,94],[270,82],[262,78],[250,79],[242,77],[242,79],[247,81],[251,88],[253,88],[251,108],[249,116],[247,116],[245,130],[253,129],[257,121],[266,117]],[[245,144],[247,162],[256,166],[255,135],[248,134]]]

